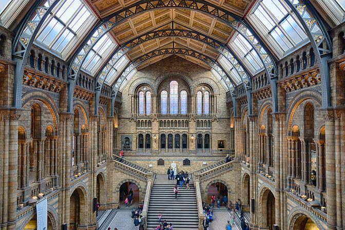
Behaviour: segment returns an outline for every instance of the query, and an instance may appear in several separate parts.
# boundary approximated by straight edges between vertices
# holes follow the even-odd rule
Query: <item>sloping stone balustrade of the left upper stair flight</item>
[[[135,176],[143,181],[148,181],[150,178],[155,177],[155,173],[148,168],[142,167],[116,155],[113,155],[113,158],[115,168],[120,171],[126,172],[131,176]]]

